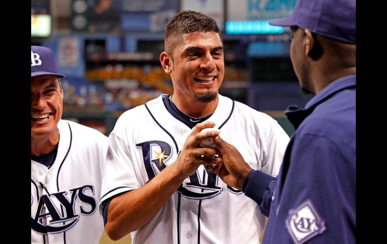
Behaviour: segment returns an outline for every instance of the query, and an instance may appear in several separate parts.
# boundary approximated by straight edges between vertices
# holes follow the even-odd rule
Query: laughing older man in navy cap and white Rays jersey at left
[[[31,46],[31,243],[98,243],[108,138],[61,119],[61,77],[53,51]]]

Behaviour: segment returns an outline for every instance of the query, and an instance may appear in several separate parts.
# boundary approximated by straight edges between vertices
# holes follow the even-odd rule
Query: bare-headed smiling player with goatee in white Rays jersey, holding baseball
[[[219,95],[223,40],[208,16],[183,11],[172,17],[160,62],[173,95],[125,112],[109,136],[101,198],[108,235],[132,232],[133,243],[258,243],[264,216],[207,170],[218,159],[201,155],[218,151],[200,148],[213,132],[199,132],[219,128],[252,168],[273,176],[288,136],[268,115]]]

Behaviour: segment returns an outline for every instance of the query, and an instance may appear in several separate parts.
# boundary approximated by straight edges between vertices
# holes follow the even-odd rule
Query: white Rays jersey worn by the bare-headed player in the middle
[[[161,95],[125,112],[109,136],[101,202],[144,186],[173,164],[190,128],[172,116]],[[248,164],[278,174],[289,137],[266,114],[219,96],[208,121],[234,145]],[[145,226],[132,232],[133,243],[259,243],[264,216],[258,205],[200,166],[186,178]]]

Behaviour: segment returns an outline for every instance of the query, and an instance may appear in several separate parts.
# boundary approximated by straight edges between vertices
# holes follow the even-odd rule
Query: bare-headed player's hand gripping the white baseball
[[[197,124],[192,128],[191,133],[188,135],[183,148],[176,162],[180,171],[180,174],[184,177],[191,176],[200,165],[217,165],[220,158],[202,157],[202,155],[215,155],[219,154],[216,148],[200,147],[199,143],[207,138],[212,138],[219,135],[217,131],[201,132],[204,128],[214,127],[214,122],[203,122]]]

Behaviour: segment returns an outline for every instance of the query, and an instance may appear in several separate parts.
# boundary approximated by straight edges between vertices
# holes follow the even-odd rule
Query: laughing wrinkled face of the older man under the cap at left
[[[54,75],[31,77],[31,137],[55,136],[62,112],[63,90],[59,78]]]

